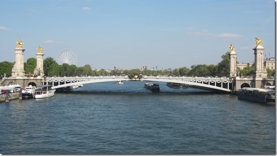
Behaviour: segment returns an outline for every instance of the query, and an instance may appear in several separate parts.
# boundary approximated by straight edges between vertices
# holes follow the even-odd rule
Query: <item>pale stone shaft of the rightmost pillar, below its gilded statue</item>
[[[254,50],[254,78],[267,78],[267,71],[264,67],[264,47],[262,46],[256,46]]]

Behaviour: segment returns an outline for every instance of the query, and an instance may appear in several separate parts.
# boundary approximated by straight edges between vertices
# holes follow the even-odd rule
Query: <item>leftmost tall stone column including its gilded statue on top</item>
[[[24,51],[25,49],[22,48],[23,42],[19,39],[17,42],[17,47],[15,48],[15,64],[12,68],[11,77],[24,77]]]

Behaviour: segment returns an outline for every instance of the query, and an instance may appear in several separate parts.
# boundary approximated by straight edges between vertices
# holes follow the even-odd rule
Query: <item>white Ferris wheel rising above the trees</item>
[[[76,66],[78,65],[78,59],[77,59],[76,55],[69,50],[62,51],[58,55],[56,62],[58,64],[67,63],[69,65],[72,65],[72,64],[76,65]]]

